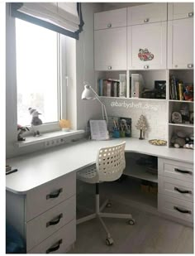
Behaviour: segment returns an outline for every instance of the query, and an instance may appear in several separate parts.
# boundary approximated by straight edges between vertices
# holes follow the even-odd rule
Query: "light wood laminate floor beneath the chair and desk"
[[[78,205],[84,206],[78,207],[78,217],[94,209],[94,197],[87,194],[83,192],[78,196]],[[106,234],[99,220],[77,225],[77,241],[69,254],[193,254],[193,228],[126,205],[114,200],[114,196],[112,208],[104,211],[131,213],[136,224],[103,218],[114,240],[112,246],[105,243]]]

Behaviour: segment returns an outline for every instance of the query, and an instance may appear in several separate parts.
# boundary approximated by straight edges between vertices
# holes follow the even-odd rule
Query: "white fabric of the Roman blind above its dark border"
[[[78,31],[79,17],[76,2],[23,2],[17,12],[50,22],[68,31]]]

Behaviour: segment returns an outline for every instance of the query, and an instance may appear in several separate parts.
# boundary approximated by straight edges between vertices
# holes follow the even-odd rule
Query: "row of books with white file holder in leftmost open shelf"
[[[107,97],[126,97],[126,75],[119,75],[119,80],[99,79],[98,95]]]

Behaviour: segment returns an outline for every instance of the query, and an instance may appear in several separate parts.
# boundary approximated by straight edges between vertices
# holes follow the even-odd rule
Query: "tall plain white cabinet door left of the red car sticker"
[[[126,27],[94,31],[95,70],[126,70]]]

